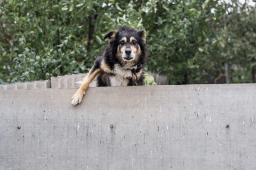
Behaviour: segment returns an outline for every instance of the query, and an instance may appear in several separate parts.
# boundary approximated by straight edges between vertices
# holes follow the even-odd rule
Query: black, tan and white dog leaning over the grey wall
[[[143,66],[146,63],[146,31],[122,27],[106,35],[109,43],[82,81],[72,97],[71,104],[80,104],[90,83],[95,79],[96,86],[135,86],[143,85]]]

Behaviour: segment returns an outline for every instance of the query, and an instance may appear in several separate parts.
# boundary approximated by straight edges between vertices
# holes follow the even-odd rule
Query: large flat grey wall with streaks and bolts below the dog
[[[0,91],[0,170],[256,168],[255,84],[76,90]]]

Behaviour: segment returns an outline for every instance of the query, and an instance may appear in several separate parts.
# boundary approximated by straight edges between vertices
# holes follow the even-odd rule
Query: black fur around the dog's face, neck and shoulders
[[[114,34],[115,34],[115,38],[112,37]],[[144,64],[146,63],[146,47],[145,47],[145,37],[144,37],[145,31],[144,30],[137,31],[130,27],[122,27],[121,29],[118,29],[118,31],[108,32],[104,36],[105,39],[109,38],[110,40],[109,44],[106,46],[106,49],[103,52],[103,56],[98,57],[94,62],[94,65],[90,71],[90,74],[94,72],[94,70],[101,68],[102,61],[104,61],[111,70],[115,69],[116,64],[119,64],[121,67],[124,66],[124,63],[122,63],[122,61],[120,61],[120,59],[117,57],[118,45],[122,37],[127,37],[127,39],[129,39],[129,37],[131,36],[136,38],[137,43],[141,49],[140,55],[137,56],[138,57],[137,62],[133,65],[133,66],[135,65],[138,66],[141,64],[141,67],[135,70],[136,73],[140,72],[141,69],[143,69]],[[112,75],[115,75],[115,73],[112,73],[112,72],[107,73],[107,72],[101,71],[100,74],[97,76],[97,86],[111,86],[109,77]],[[138,85],[143,85],[143,80],[144,80],[144,76],[142,72],[137,79]],[[134,80],[132,80],[132,78],[129,78],[129,83],[127,84],[127,86],[134,85],[133,81]]]

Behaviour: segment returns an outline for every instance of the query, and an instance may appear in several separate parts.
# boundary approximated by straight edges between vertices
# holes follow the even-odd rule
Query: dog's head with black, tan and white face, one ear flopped
[[[144,52],[146,31],[135,30],[130,27],[123,27],[119,30],[108,32],[104,38],[109,38],[112,52],[121,61],[136,61]]]

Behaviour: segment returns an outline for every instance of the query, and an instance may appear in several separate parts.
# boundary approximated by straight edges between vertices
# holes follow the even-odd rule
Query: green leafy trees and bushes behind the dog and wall
[[[224,73],[255,83],[256,6],[249,0],[0,0],[0,84],[88,72],[120,26],[147,31],[146,70],[171,84]]]

